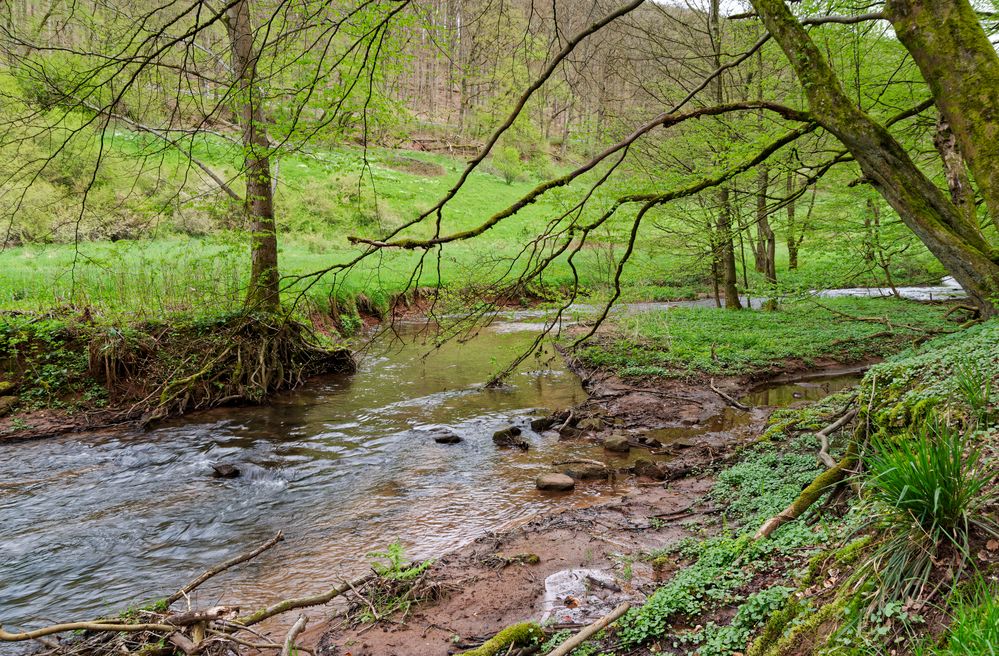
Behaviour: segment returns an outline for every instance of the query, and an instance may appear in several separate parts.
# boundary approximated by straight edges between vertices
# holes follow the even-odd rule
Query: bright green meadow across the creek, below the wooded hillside
[[[0,310],[86,306],[117,320],[122,315],[146,318],[236,309],[249,269],[249,238],[241,230],[238,204],[202,179],[198,169],[191,169],[175,150],[164,150],[152,138],[118,130],[105,144],[105,159],[89,193],[87,211],[81,214],[80,201],[97,150],[96,140],[83,134],[52,161],[23,197],[20,189],[11,189],[0,198],[0,215],[17,205],[10,228],[25,244],[0,249]],[[196,157],[242,193],[238,149],[212,136],[198,139],[193,148]],[[0,160],[0,174],[17,170],[22,160],[45,155],[49,149],[48,141],[29,140],[18,151],[0,152],[5,156]],[[296,299],[307,282],[314,282],[308,294],[317,301],[334,296],[349,306],[351,299],[364,293],[384,307],[390,297],[411,284],[422,251],[385,251],[337,278],[296,283],[295,277],[356,257],[361,251],[348,242],[349,236],[381,237],[419,215],[445,195],[464,165],[463,160],[444,155],[346,146],[282,156],[276,162],[275,213],[280,265],[288,277],[285,301]],[[552,174],[545,168],[552,167],[525,164],[508,183],[487,161],[449,203],[442,232],[479,225]],[[572,207],[598,173],[549,192],[472,241],[449,244],[439,261],[432,254],[413,284],[464,289],[509,280],[511,271],[516,274],[524,266],[522,260],[514,259],[525,244],[548,220]],[[636,184],[637,177],[625,174],[598,191],[583,220],[602,212],[610,198],[632,191]],[[847,206],[835,200],[831,198],[825,207],[835,215],[838,234],[849,217],[842,216]],[[706,258],[692,252],[686,238],[663,229],[672,225],[690,230],[688,210],[666,206],[653,213],[654,221],[643,224],[622,279],[623,300],[686,299],[710,290]],[[575,258],[584,294],[607,295],[632,216],[627,210],[619,213],[591,235]],[[856,222],[857,217],[849,220]],[[787,254],[783,243],[779,245],[782,287],[799,290],[881,283],[878,275],[844,253],[842,240],[825,239],[825,229],[818,230],[803,246],[801,267],[796,271],[787,270]],[[404,234],[426,237],[431,232],[431,225],[421,225]],[[756,289],[762,280],[752,271],[751,259],[748,275],[740,272],[740,278]],[[893,270],[899,284],[933,282],[941,274],[939,264],[921,248],[912,249]],[[564,257],[537,281],[546,295],[558,294],[573,283]]]

